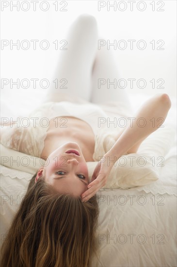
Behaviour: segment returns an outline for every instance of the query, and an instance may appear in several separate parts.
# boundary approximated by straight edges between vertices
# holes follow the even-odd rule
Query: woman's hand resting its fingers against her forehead
[[[106,184],[112,167],[113,164],[109,163],[105,156],[98,162],[93,172],[91,183],[88,184],[88,190],[81,195],[82,201],[92,198]]]

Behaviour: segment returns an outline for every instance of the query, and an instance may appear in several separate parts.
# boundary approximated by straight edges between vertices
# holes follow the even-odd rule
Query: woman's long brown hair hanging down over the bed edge
[[[96,195],[87,202],[32,177],[1,248],[2,267],[88,267],[98,257]]]

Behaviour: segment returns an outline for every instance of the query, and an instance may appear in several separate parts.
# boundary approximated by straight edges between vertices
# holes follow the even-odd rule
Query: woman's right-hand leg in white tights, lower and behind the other
[[[119,80],[120,73],[112,51],[107,49],[107,45],[101,46],[100,50],[97,49],[93,67],[92,102],[115,106],[117,113],[121,107],[131,110],[128,94],[126,89],[120,88],[124,84]]]

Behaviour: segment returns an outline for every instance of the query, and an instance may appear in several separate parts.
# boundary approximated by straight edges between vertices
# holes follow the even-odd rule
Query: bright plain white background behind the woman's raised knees
[[[21,3],[23,3],[21,8]],[[30,9],[27,9],[27,3]],[[120,50],[118,47],[113,49],[110,47],[114,57],[116,58],[119,73],[118,79],[136,79],[133,88],[130,88],[128,82],[127,90],[130,94],[145,94],[150,96],[156,93],[167,93],[170,97],[176,96],[176,0],[163,1],[135,1],[133,10],[130,10],[129,1],[102,1],[105,7],[98,11],[99,1],[95,0],[69,0],[57,1],[58,11],[55,11],[56,1],[48,0],[48,11],[45,1],[39,0],[36,2],[36,11],[33,11],[32,1],[19,1],[19,11],[12,5],[17,1],[1,1],[1,43],[2,40],[12,40],[16,43],[23,40],[29,40],[30,48],[28,50],[10,49],[10,45],[1,46],[1,82],[2,79],[48,79],[52,81],[52,74],[56,67],[60,50],[55,50],[53,42],[64,40],[65,34],[71,23],[80,14],[90,14],[96,17],[100,39],[109,39],[110,43],[116,40],[125,40],[127,48]],[[142,3],[141,3],[142,2]],[[67,4],[65,7],[65,3]],[[114,7],[108,6],[114,4]],[[4,5],[9,4],[7,7]],[[152,11],[154,5],[154,11]],[[61,9],[67,11],[62,11]],[[139,9],[143,9],[140,11]],[[121,11],[125,8],[125,11]],[[164,9],[164,11],[157,11]],[[36,50],[33,50],[31,40],[39,40]],[[42,50],[39,43],[42,40],[48,40],[50,47],[48,50]],[[128,40],[136,40],[133,43],[133,49],[130,50]],[[145,50],[137,48],[137,42],[144,40],[146,42]],[[152,49],[150,42],[155,40],[155,49]],[[157,50],[163,40],[164,50]],[[60,44],[59,44],[60,45]],[[121,44],[123,45],[123,44]],[[142,45],[142,44],[140,44]],[[25,46],[25,44],[24,44]],[[60,45],[61,46],[61,45]],[[116,78],[116,77],[115,77]],[[144,89],[137,87],[137,80],[145,79],[146,87]],[[155,88],[152,88],[150,81],[155,79]],[[160,83],[158,79],[163,79],[164,88],[157,88]],[[141,85],[141,84],[140,84]],[[83,84],[84,86],[84,84]],[[37,82],[37,88],[33,88],[31,81],[29,89],[19,88],[16,85],[10,88],[10,83],[1,88],[1,107],[6,108],[8,116],[17,115],[18,113],[25,114],[38,105],[47,89],[41,88]],[[8,109],[7,109],[8,108]],[[21,114],[21,115],[22,115]],[[5,114],[3,114],[5,115]]]

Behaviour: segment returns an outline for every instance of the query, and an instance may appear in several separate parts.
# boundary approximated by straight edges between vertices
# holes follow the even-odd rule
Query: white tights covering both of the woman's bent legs
[[[62,101],[95,104],[110,104],[116,102],[125,107],[130,106],[125,89],[107,85],[107,79],[118,80],[118,71],[113,55],[107,47],[97,48],[98,31],[95,17],[81,15],[69,28],[66,36],[67,50],[61,51],[61,56],[54,78],[67,80],[66,88],[49,88],[46,101]],[[98,79],[105,79],[106,84],[98,88]],[[64,81],[65,81],[64,80]],[[60,84],[60,83],[59,83]],[[58,86],[60,87],[60,85]]]

